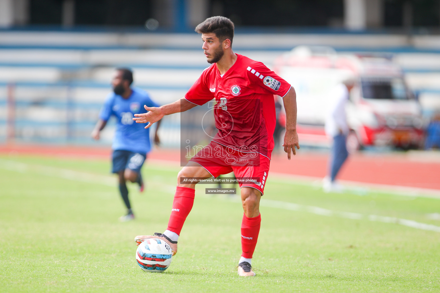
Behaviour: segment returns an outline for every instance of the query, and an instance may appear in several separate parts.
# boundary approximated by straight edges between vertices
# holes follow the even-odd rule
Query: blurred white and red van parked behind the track
[[[347,103],[350,151],[369,145],[418,148],[423,141],[422,109],[402,70],[387,58],[337,54],[331,47],[298,46],[275,60],[274,70],[297,92],[300,141],[323,138],[327,95],[348,76],[357,82]]]

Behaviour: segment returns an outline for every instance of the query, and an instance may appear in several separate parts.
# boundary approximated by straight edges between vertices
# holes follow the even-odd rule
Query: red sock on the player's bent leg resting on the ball
[[[188,214],[191,212],[194,196],[195,189],[177,186],[167,230],[180,235],[183,223],[185,223]]]

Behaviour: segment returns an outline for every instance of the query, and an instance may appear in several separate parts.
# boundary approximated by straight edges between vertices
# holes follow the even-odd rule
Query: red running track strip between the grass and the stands
[[[108,147],[0,145],[3,154],[81,157],[109,159]],[[175,162],[179,166],[179,150],[154,149],[151,159]],[[322,152],[297,151],[287,160],[285,153],[272,155],[271,172],[311,177],[326,175],[328,155]],[[269,175],[270,176],[270,175]],[[369,154],[359,153],[348,158],[338,176],[341,180],[372,184],[400,185],[440,190],[440,154],[430,152]]]

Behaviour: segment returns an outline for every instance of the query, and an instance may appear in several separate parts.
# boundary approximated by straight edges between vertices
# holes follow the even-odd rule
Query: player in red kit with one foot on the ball
[[[136,236],[139,245],[148,238],[160,238],[177,252],[177,239],[194,203],[197,182],[182,183],[183,178],[209,178],[234,171],[237,178],[253,177],[254,181],[239,183],[244,210],[241,242],[242,256],[238,275],[254,276],[251,260],[260,232],[260,198],[269,174],[274,148],[275,102],[273,95],[282,97],[286,109],[284,151],[296,154],[296,94],[293,87],[263,63],[232,51],[234,24],[221,16],[207,18],[195,31],[202,34],[206,59],[212,65],[188,90],[183,99],[161,107],[147,107],[149,112],[135,114],[136,123],[148,123],[163,116],[183,112],[212,99],[217,104],[214,117],[218,132],[213,140],[194,156],[177,176],[168,228],[164,233]]]

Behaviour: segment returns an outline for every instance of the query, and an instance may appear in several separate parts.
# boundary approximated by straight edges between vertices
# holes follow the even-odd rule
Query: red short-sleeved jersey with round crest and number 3
[[[197,105],[215,98],[218,132],[212,141],[270,158],[275,130],[273,95],[283,97],[291,86],[263,63],[236,55],[237,61],[223,77],[216,63],[205,69],[185,98]]]

